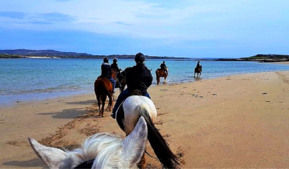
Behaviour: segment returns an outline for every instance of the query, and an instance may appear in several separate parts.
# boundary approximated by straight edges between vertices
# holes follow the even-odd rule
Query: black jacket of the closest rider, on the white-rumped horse
[[[127,89],[130,91],[140,90],[145,94],[152,81],[151,71],[144,64],[137,64],[127,70],[126,82]]]

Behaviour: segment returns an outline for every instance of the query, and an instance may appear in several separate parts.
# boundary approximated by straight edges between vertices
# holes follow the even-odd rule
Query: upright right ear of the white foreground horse
[[[134,130],[125,138],[123,148],[123,162],[129,166],[137,164],[145,150],[147,142],[147,123],[140,117]]]

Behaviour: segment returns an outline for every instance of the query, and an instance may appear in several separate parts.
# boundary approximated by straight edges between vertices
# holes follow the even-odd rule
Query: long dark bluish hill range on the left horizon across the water
[[[2,55],[1,55],[2,54]],[[13,56],[12,56],[13,55]],[[28,57],[28,56],[39,56],[39,57],[60,57],[60,58],[122,58],[122,59],[133,59],[135,55],[91,55],[88,53],[76,53],[76,52],[61,52],[55,50],[28,50],[28,49],[14,49],[14,50],[0,50],[0,58],[10,57]],[[186,57],[160,57],[160,56],[148,56],[150,59],[190,59]]]

